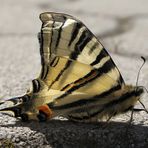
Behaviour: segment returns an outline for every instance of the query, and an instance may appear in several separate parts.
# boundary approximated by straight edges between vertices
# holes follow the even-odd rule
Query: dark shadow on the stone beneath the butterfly
[[[5,127],[29,127],[41,133],[45,141],[54,147],[145,147],[148,145],[148,128],[122,122],[77,123],[51,120],[48,122],[17,121]]]

